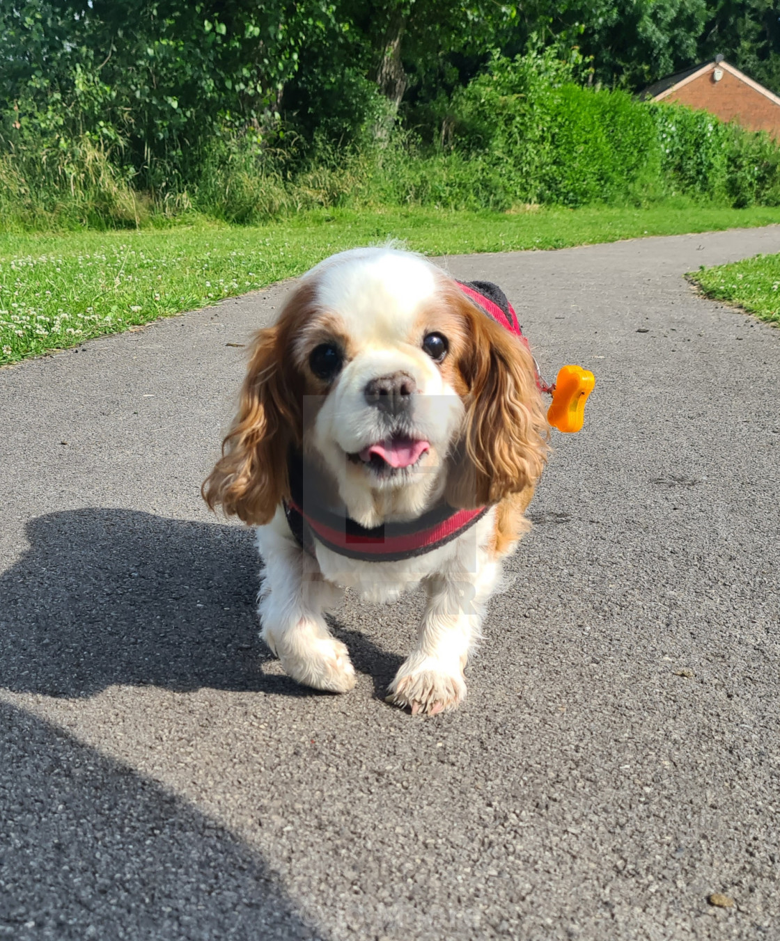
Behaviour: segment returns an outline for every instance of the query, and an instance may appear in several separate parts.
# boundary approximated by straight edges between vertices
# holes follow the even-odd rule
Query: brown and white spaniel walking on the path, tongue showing
[[[236,418],[203,498],[256,527],[262,637],[318,690],[355,684],[324,614],[345,587],[427,593],[387,701],[456,709],[502,560],[544,469],[535,361],[496,288],[393,247],[304,275],[252,343]]]

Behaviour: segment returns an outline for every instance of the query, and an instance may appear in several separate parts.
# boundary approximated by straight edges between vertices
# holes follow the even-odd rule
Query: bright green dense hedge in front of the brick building
[[[495,167],[517,202],[780,203],[780,149],[768,135],[570,78],[549,52],[496,57],[454,103],[453,148]]]

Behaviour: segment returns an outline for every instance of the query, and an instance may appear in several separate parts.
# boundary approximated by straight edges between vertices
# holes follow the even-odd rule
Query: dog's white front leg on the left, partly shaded
[[[257,608],[261,636],[290,677],[317,690],[346,693],[355,685],[354,667],[322,616],[337,590],[287,533],[278,532],[276,522],[257,532],[266,565]]]

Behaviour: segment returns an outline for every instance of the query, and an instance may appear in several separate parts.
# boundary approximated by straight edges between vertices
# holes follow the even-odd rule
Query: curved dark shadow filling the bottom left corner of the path
[[[0,938],[323,936],[214,821],[4,703],[0,755]]]

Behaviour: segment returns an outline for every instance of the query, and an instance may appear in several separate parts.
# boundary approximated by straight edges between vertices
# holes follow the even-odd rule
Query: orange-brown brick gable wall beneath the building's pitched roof
[[[712,72],[717,68],[712,66],[687,85],[664,96],[663,101],[703,108],[721,120],[734,120],[751,131],[769,131],[780,140],[780,104],[725,69],[720,82],[714,81]]]

